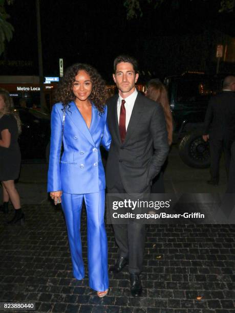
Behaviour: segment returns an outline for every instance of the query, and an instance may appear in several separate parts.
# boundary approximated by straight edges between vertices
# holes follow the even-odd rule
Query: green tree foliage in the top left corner
[[[5,10],[5,3],[12,4],[14,0],[0,0],[0,55],[5,48],[5,42],[10,41],[14,31],[13,26],[7,21],[10,15]]]

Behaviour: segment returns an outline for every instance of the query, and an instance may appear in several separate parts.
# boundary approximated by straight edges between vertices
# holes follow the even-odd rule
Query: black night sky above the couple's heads
[[[65,68],[87,62],[109,80],[113,59],[121,53],[135,56],[140,69],[156,76],[175,74],[175,68],[164,68],[162,63],[168,63],[169,57],[183,62],[184,52],[175,49],[176,38],[180,41],[181,35],[200,35],[206,30],[235,36],[234,13],[218,13],[220,1],[166,0],[156,10],[146,0],[141,3],[143,16],[127,20],[122,0],[41,0],[44,76],[58,76],[58,59],[63,58]],[[33,61],[31,68],[15,69],[15,74],[37,75],[35,1],[15,0],[6,10],[15,31],[0,59]],[[172,47],[162,47],[161,37],[169,38]]]

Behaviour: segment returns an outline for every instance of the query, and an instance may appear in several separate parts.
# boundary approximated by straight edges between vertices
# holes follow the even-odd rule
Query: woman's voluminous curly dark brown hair
[[[72,87],[75,76],[81,70],[86,71],[91,77],[92,92],[89,99],[94,103],[100,113],[103,113],[103,108],[107,99],[105,82],[97,70],[89,64],[75,63],[66,70],[65,75],[59,82],[55,92],[56,101],[62,102],[62,105],[66,107],[69,106],[71,101],[75,100],[76,97],[74,96]]]

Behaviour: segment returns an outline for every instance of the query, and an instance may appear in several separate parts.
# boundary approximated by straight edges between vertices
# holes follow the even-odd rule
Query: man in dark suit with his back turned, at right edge
[[[219,162],[224,151],[225,167],[228,174],[231,144],[235,140],[235,77],[227,76],[223,81],[223,91],[212,97],[208,103],[203,139],[209,139],[210,185],[219,183]]]

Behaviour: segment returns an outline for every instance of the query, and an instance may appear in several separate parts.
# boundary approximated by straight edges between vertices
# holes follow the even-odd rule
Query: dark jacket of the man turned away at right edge
[[[223,91],[212,97],[208,103],[204,135],[210,134],[213,138],[223,139],[235,136],[235,93]]]

